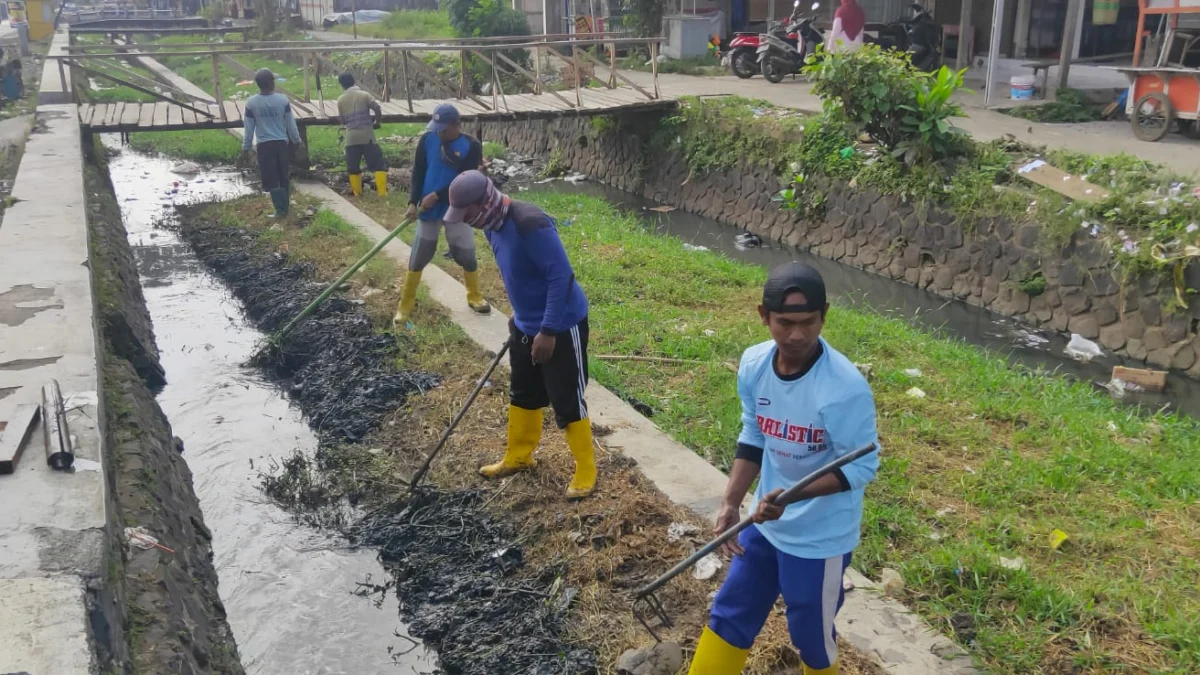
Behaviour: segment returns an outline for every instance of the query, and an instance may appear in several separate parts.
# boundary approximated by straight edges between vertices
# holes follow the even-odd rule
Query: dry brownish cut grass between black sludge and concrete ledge
[[[311,205],[317,204],[311,198],[298,197],[294,213],[301,214]],[[252,235],[250,245],[281,251],[292,261],[312,263],[314,276],[326,281],[371,246],[353,226],[325,210],[318,210],[302,228],[296,227],[300,225],[296,220],[276,227],[275,221],[264,216],[264,202],[259,197],[208,205],[200,217],[245,228]],[[364,299],[379,330],[390,329],[401,274],[396,262],[380,256],[354,277],[347,291]],[[397,368],[438,374],[442,386],[409,401],[407,408],[397,411],[389,424],[362,442],[324,450],[322,466],[332,471],[329,479],[335,489],[354,494],[361,500],[356,503],[365,509],[396,498],[404,489],[398,478],[410,474],[415,462],[428,452],[488,360],[487,354],[449,319],[445,310],[427,299],[424,288],[420,300],[414,316],[415,329],[398,339]],[[536,472],[498,483],[481,483],[473,468],[503,454],[508,396],[506,388],[499,383],[504,377],[503,372],[498,375],[493,386],[480,395],[434,464],[431,482],[451,490],[480,485],[490,490],[486,503],[521,528],[526,568],[530,573],[566,562],[563,583],[580,590],[571,635],[598,651],[602,673],[612,673],[612,664],[622,651],[649,641],[630,615],[629,589],[690,552],[690,542],[668,543],[665,534],[670,522],[694,518],[653,489],[631,462],[604,448],[598,450],[601,492],[590,500],[568,502],[563,492],[572,465],[562,432],[550,420]],[[707,527],[701,537],[704,531]],[[580,536],[569,536],[575,532]],[[666,596],[678,620],[672,637],[684,644],[695,640],[704,620],[708,595],[715,587],[714,581],[697,581],[690,575],[671,585]],[[794,665],[794,656],[786,645],[784,617],[773,616],[763,649],[756,652],[752,671],[776,671],[784,663]],[[844,671],[878,674],[848,645],[844,645]]]

